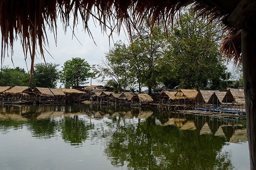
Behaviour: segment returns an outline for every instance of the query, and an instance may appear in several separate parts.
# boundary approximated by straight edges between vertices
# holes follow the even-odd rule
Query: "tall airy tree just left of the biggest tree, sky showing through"
[[[159,84],[158,79],[162,70],[160,68],[167,46],[167,39],[160,33],[160,28],[152,31],[145,25],[138,34],[133,35],[133,43],[130,45],[131,51],[131,72],[134,72],[139,84],[148,87],[148,94],[152,88]]]

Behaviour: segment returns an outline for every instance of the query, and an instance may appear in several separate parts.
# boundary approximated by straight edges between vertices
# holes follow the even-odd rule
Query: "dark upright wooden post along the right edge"
[[[256,170],[256,29],[243,28],[241,43],[250,168]]]

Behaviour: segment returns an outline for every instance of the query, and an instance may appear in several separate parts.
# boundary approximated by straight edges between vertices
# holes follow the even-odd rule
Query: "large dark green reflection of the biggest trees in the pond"
[[[127,164],[130,169],[233,169],[229,155],[220,153],[224,137],[158,126],[154,116],[137,125],[124,121],[109,124],[113,131],[105,154],[116,167]]]

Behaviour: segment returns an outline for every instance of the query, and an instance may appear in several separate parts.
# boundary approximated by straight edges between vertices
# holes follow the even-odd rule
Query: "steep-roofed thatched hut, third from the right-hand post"
[[[206,108],[206,104],[214,92],[218,92],[218,91],[199,90],[198,94],[195,97],[196,106],[198,108]]]

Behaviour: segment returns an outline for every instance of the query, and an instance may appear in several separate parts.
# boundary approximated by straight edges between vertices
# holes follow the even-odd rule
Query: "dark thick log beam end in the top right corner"
[[[247,25],[249,17],[254,15],[256,12],[256,1],[255,0],[241,0],[236,8],[231,12],[227,18],[228,23],[232,26],[241,29]]]

